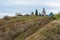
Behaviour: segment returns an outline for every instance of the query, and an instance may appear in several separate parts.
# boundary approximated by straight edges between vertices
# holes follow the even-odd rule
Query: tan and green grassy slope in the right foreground
[[[55,20],[38,32],[34,33],[26,40],[60,40],[60,20]]]

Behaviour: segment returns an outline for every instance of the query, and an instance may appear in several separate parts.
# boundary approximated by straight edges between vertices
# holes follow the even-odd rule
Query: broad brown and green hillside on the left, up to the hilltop
[[[39,19],[39,16],[23,16],[20,18],[15,18],[11,20],[3,20],[0,26],[0,40],[13,40],[20,33],[25,31],[29,21]],[[5,22],[5,23],[4,23]],[[26,24],[26,25],[25,25]],[[25,27],[26,26],[26,27]],[[5,38],[5,39],[4,39]],[[8,39],[7,39],[8,38]]]

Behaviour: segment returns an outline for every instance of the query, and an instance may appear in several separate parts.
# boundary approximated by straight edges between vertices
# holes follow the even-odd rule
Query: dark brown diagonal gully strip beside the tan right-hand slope
[[[28,27],[30,26],[31,28],[27,29],[25,32],[19,35],[19,37],[17,37],[15,40],[25,40],[25,38],[29,37],[36,31],[38,31],[41,27],[44,27],[44,25],[49,23],[49,21],[50,20],[48,18],[40,18],[34,21],[34,23],[32,22],[33,24],[28,25]]]

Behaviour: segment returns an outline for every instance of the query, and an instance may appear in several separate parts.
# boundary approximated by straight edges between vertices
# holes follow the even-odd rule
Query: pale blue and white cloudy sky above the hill
[[[16,12],[22,14],[38,11],[42,8],[49,12],[57,13],[60,11],[60,0],[0,0],[0,17],[4,15],[14,15]]]

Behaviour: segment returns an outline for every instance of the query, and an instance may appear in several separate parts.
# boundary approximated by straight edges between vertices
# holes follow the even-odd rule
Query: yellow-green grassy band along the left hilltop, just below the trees
[[[27,21],[27,20],[35,19],[35,18],[39,18],[39,16],[22,16],[22,17],[10,19],[10,20],[0,19],[0,28],[1,26],[5,26],[11,23],[13,24],[16,22],[23,22],[23,21]]]

